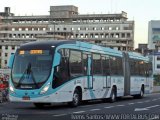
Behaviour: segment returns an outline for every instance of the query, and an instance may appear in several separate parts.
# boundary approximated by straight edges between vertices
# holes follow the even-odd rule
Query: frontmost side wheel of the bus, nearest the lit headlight
[[[81,101],[80,98],[81,98],[81,97],[80,97],[80,92],[79,92],[79,90],[78,90],[78,89],[75,89],[75,91],[74,91],[74,93],[73,93],[72,101],[69,102],[69,105],[70,105],[71,107],[77,107],[77,106],[80,104],[80,101]]]

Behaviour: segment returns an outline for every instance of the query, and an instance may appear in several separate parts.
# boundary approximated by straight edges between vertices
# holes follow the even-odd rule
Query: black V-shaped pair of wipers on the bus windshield
[[[34,84],[36,85],[36,88],[39,87],[38,84],[37,84],[37,82],[36,82],[36,80],[35,80],[35,77],[34,77],[34,75],[33,75],[33,72],[32,72],[32,69],[31,69],[31,63],[28,63],[27,68],[25,69],[24,73],[22,74],[22,77],[21,77],[20,80],[18,81],[17,87],[19,87],[20,84],[21,84],[21,82],[25,79],[25,75],[28,76],[28,79],[29,79],[29,77],[31,76]]]

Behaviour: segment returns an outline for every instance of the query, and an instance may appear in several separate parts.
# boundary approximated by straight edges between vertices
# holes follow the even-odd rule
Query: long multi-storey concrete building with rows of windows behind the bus
[[[7,49],[2,48],[8,47],[14,52],[11,48],[35,41],[38,36],[62,36],[124,51],[134,47],[134,21],[127,21],[124,11],[119,14],[78,14],[78,7],[66,5],[50,6],[49,15],[14,16],[10,8],[3,13],[7,14],[0,14],[1,67],[6,66],[5,60],[9,57]],[[8,56],[4,59],[3,55]]]

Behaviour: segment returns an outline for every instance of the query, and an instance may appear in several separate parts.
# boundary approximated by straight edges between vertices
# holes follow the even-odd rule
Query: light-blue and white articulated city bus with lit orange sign
[[[10,57],[9,99],[35,107],[118,97],[142,98],[152,92],[148,57],[80,41],[37,41]]]

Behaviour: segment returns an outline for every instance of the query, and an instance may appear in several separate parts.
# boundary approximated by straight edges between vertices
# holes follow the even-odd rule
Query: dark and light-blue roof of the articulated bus
[[[116,55],[116,56],[121,56],[123,52],[118,51],[115,49],[111,49],[109,47],[102,47],[98,46],[95,44],[87,43],[87,42],[81,42],[81,41],[76,41],[76,40],[50,40],[50,41],[35,41],[35,42],[29,42],[26,44],[23,44],[20,46],[20,49],[51,49],[54,47],[58,47],[60,45],[65,45],[65,44],[70,44],[79,47],[81,50],[87,50],[89,52],[97,52],[97,53],[104,53],[104,54],[109,54],[109,55]],[[135,52],[128,52],[129,58],[133,59],[140,59],[140,60],[145,60],[148,61],[148,57],[144,57],[139,53]]]

